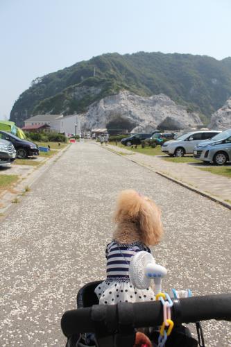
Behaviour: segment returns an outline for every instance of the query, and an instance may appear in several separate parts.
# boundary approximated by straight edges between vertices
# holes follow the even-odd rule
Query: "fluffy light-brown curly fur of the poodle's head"
[[[133,189],[119,194],[114,222],[117,228],[113,238],[121,244],[139,241],[146,246],[155,246],[163,234],[160,208]]]

